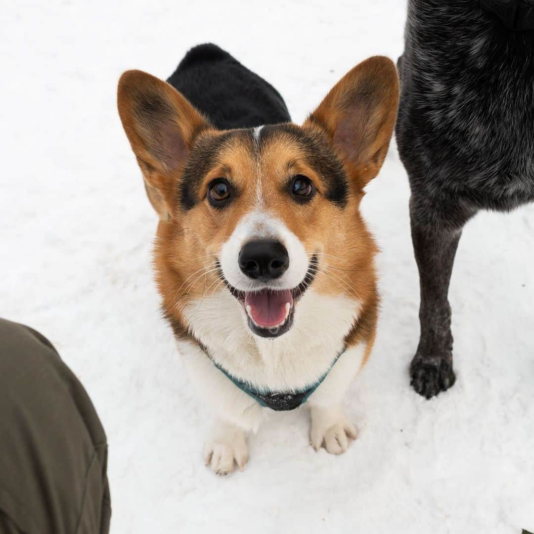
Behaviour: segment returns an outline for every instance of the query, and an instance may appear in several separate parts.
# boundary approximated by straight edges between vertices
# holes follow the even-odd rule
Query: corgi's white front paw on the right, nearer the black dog
[[[356,428],[345,418],[340,406],[312,407],[310,441],[313,449],[318,451],[325,447],[331,454],[343,454],[356,437]]]

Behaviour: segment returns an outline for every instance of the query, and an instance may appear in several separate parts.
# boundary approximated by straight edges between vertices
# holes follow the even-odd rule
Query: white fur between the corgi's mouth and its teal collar
[[[358,318],[359,303],[309,289],[296,303],[289,332],[255,336],[241,304],[227,290],[191,303],[185,318],[211,358],[237,378],[273,391],[305,389],[328,369]]]

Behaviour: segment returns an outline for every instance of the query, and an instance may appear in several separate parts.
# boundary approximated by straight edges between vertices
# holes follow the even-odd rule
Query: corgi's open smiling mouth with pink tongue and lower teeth
[[[248,326],[258,336],[279,337],[292,326],[295,316],[295,303],[310,286],[318,271],[317,256],[313,256],[302,282],[293,289],[272,289],[244,292],[232,287],[224,279],[230,293],[243,305],[247,314]]]

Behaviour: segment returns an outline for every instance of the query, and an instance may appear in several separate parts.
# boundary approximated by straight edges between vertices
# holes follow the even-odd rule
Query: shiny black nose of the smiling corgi
[[[278,241],[250,241],[241,248],[238,262],[249,278],[274,280],[287,271],[289,255]]]

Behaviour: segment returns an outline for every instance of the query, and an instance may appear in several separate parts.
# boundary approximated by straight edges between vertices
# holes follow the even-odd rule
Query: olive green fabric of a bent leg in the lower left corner
[[[0,533],[107,534],[104,429],[51,343],[0,319]]]

